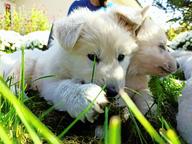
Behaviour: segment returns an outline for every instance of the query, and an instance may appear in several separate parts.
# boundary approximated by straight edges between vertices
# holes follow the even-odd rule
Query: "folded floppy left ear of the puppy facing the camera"
[[[57,22],[55,24],[55,36],[59,44],[66,50],[72,49],[80,37],[83,25],[82,22],[77,23],[67,18]]]

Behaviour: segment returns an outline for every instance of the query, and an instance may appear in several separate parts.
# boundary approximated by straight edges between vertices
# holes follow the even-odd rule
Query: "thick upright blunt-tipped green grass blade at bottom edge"
[[[109,144],[121,144],[121,120],[118,116],[110,119]]]

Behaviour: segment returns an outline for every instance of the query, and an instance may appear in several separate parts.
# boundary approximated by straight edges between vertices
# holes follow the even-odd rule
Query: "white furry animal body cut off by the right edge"
[[[185,88],[178,101],[177,129],[192,144],[192,52],[175,51],[172,54],[178,60],[186,78]]]

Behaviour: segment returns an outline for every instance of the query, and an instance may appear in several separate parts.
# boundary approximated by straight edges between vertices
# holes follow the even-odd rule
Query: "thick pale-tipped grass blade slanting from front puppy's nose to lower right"
[[[134,104],[134,102],[131,100],[131,98],[125,93],[123,90],[120,91],[120,96],[128,106],[128,108],[133,112],[137,120],[143,125],[143,127],[146,129],[146,131],[149,133],[149,135],[158,143],[164,144],[166,143],[161,136],[158,134],[158,132],[153,128],[153,126],[149,123],[149,121],[143,116],[143,114],[139,111],[137,106]]]

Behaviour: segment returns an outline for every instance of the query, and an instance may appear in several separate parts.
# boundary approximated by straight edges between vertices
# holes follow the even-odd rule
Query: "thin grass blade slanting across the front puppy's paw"
[[[102,90],[105,89],[105,86],[102,87]],[[64,131],[59,134],[59,138],[64,137],[64,135],[93,107],[95,100],[97,99],[97,97],[100,95],[100,93],[102,92],[102,90],[98,93],[98,95],[95,97],[95,99],[92,101],[92,103],[90,103],[77,117],[76,119],[67,127],[64,129]]]

